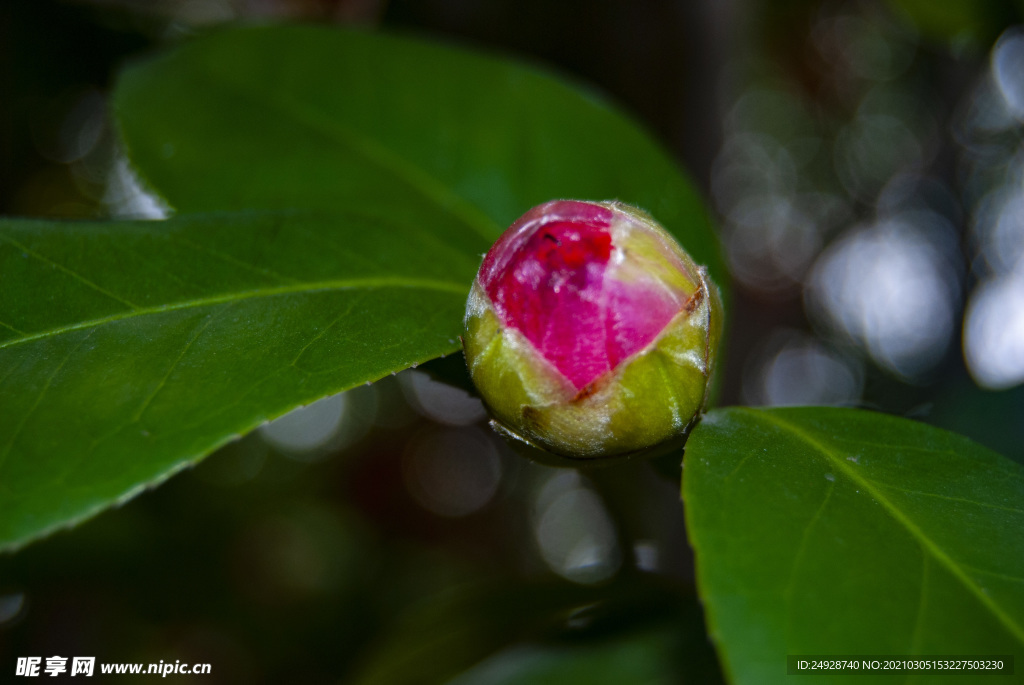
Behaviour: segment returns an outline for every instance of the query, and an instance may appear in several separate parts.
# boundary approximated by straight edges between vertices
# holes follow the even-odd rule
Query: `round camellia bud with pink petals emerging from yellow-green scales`
[[[496,427],[570,458],[682,435],[708,398],[718,289],[645,212],[535,207],[483,259],[463,346]]]

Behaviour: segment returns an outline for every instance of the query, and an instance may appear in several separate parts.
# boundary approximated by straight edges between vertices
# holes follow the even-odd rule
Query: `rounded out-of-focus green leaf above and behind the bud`
[[[115,105],[132,162],[179,211],[358,208],[480,254],[535,205],[617,199],[726,281],[673,161],[536,69],[410,38],[253,27],[128,69]]]

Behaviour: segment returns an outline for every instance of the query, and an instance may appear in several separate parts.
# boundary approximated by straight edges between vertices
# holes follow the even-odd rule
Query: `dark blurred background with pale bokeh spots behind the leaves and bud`
[[[1024,462],[1024,1],[5,0],[0,213],[162,216],[118,149],[114,75],[239,20],[434,36],[598,86],[718,216],[720,403],[874,409]],[[329,397],[0,556],[0,665],[719,680],[678,474],[527,462],[436,380],[453,369]]]

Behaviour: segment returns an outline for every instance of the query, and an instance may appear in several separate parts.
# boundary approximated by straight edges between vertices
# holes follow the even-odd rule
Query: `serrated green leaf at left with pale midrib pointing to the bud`
[[[0,548],[452,352],[475,269],[355,214],[0,220]]]

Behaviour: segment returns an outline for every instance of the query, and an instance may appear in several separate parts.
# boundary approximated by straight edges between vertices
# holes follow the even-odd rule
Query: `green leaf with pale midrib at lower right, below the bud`
[[[786,654],[1024,656],[1024,468],[967,438],[855,410],[716,411],[683,499],[736,683],[788,682]]]

